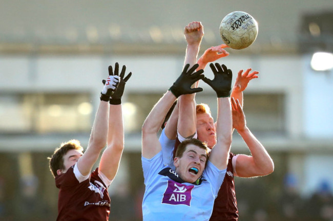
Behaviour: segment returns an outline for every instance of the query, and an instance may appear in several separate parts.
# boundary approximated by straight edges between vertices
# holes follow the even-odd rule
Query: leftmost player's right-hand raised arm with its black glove
[[[114,69],[115,76],[118,76],[118,71],[119,64],[116,63]],[[121,154],[124,148],[121,97],[123,95],[126,82],[132,75],[132,72],[130,72],[126,77],[124,77],[125,72],[126,66],[123,65],[119,75],[119,84],[116,91],[110,98],[107,148],[104,150],[99,162],[99,171],[106,175],[109,180],[113,180],[118,171]],[[113,75],[112,66],[109,66],[109,75]]]

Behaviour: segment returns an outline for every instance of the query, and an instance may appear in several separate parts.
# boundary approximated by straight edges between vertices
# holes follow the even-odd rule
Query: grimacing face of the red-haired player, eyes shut
[[[216,127],[212,115],[207,113],[197,114],[198,139],[206,142],[209,148],[216,144]]]

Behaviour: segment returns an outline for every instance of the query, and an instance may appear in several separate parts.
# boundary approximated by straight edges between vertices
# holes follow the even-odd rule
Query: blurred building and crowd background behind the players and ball
[[[0,4],[0,220],[55,220],[58,189],[47,157],[70,139],[87,147],[101,80],[115,62],[133,76],[110,220],[140,220],[141,125],[182,70],[183,28],[202,22],[200,56],[223,43],[219,25],[233,11],[256,18],[258,37],[219,62],[235,75],[260,72],[244,93],[244,112],[275,163],[268,176],[236,178],[240,220],[333,220],[333,1]],[[216,117],[215,93],[201,86],[197,102]],[[237,132],[232,151],[249,154]]]

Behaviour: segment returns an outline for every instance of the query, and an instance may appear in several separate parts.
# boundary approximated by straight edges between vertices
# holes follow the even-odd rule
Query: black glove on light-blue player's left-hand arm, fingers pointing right
[[[192,84],[204,78],[204,75],[202,74],[203,70],[200,69],[199,71],[193,73],[199,67],[199,64],[194,64],[188,71],[189,67],[190,64],[185,65],[183,72],[169,89],[177,98],[183,94],[193,94],[203,90],[201,87],[194,89],[191,88]]]

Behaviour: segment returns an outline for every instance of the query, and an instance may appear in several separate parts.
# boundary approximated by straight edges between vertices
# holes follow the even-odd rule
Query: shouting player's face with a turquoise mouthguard
[[[196,182],[205,167],[207,154],[204,149],[188,144],[181,158],[176,157],[174,164],[180,178],[188,183]]]

